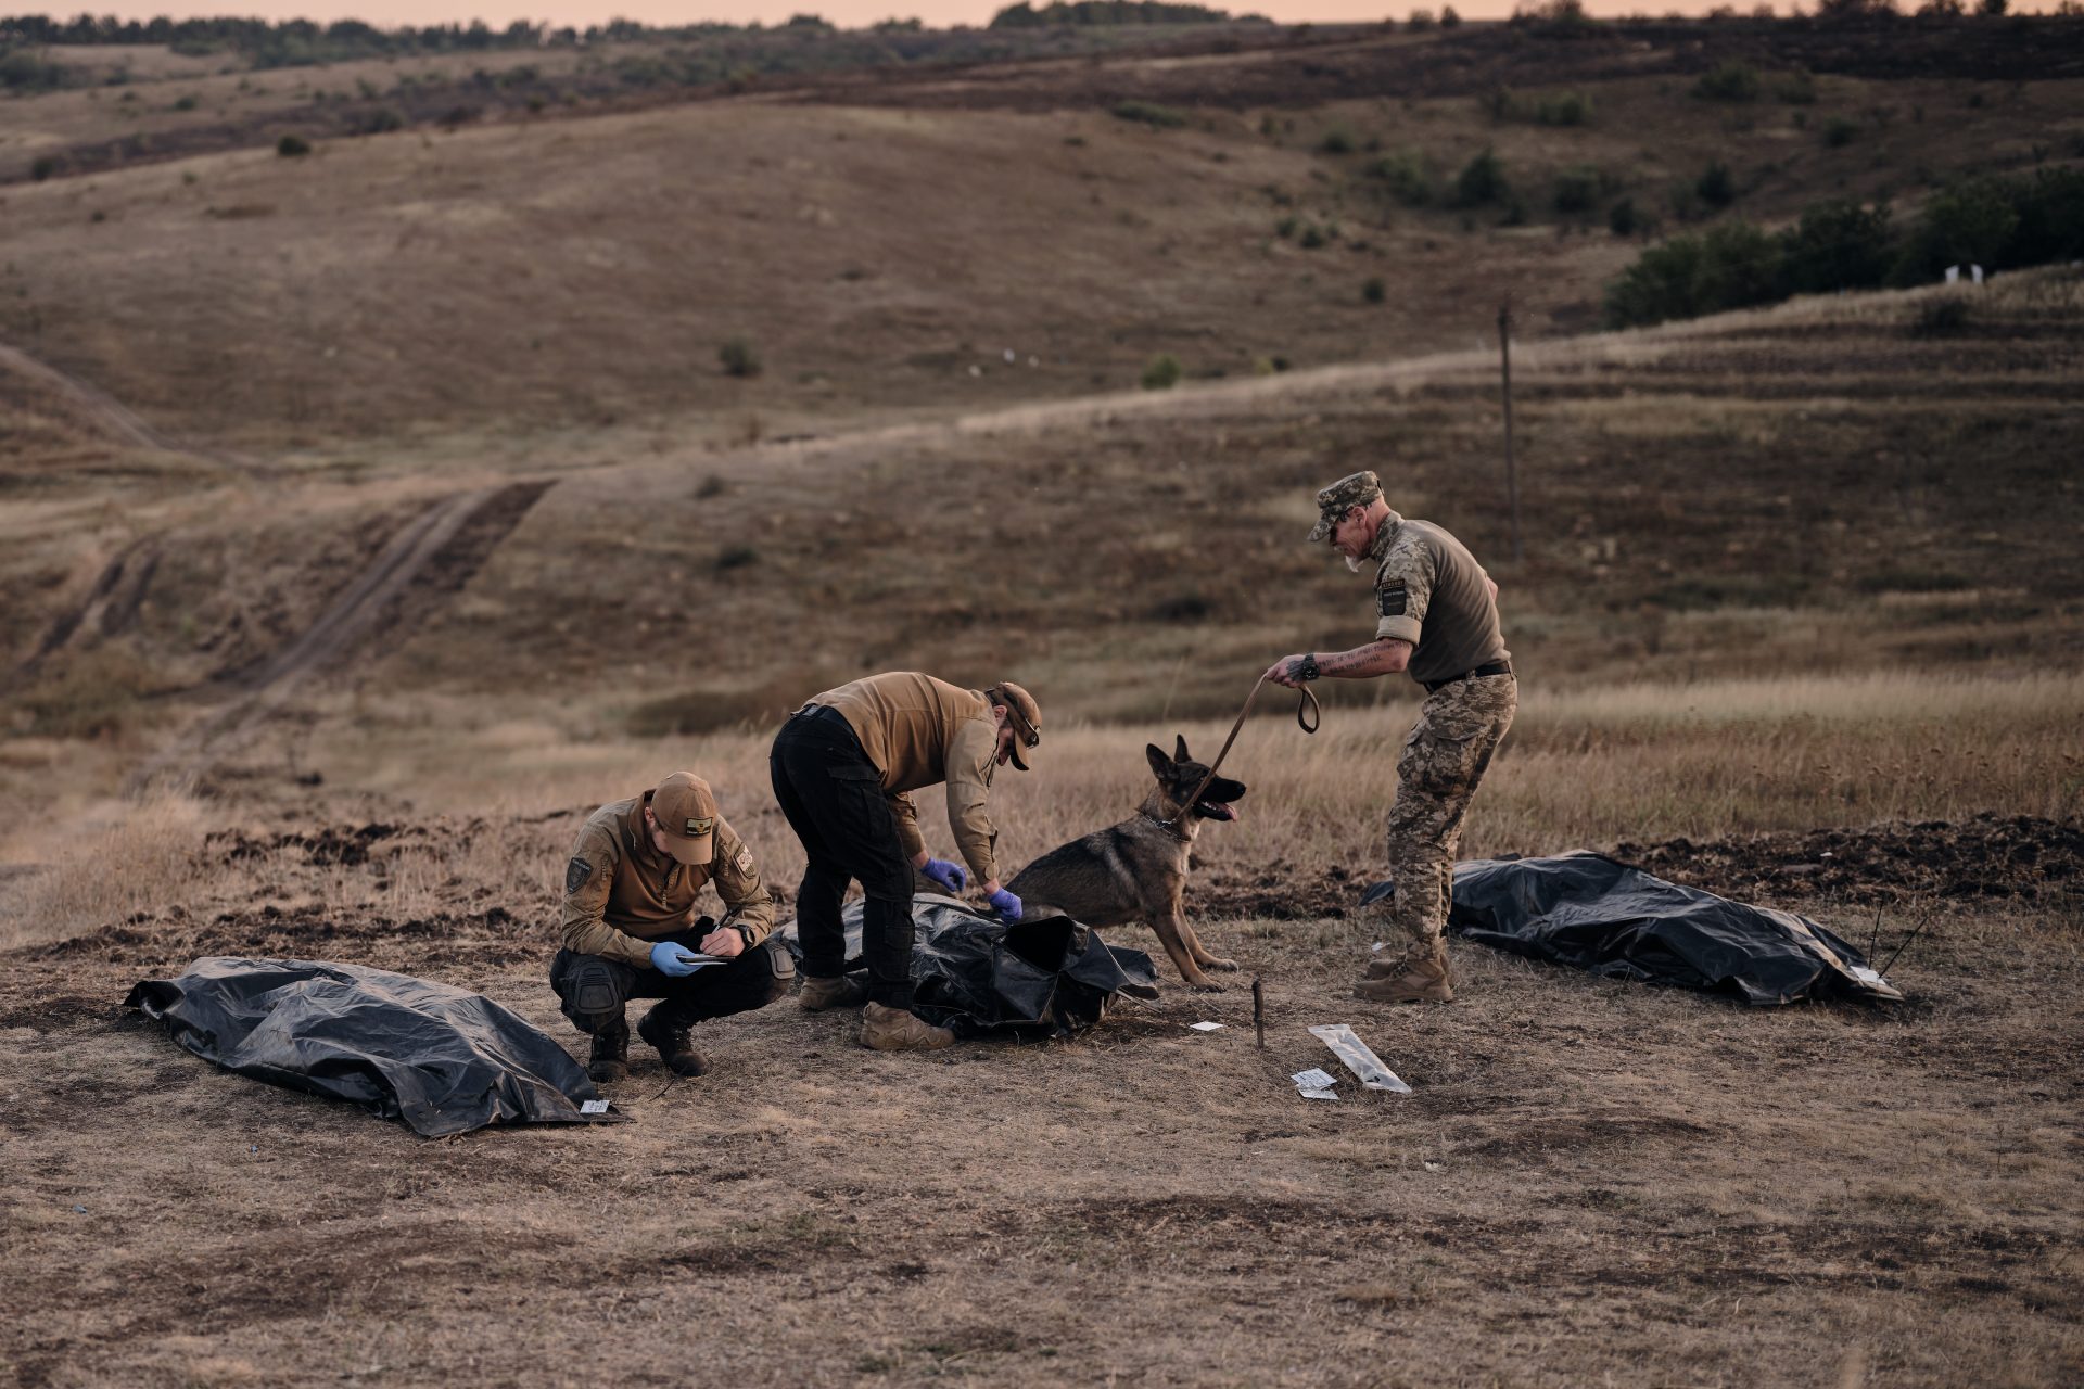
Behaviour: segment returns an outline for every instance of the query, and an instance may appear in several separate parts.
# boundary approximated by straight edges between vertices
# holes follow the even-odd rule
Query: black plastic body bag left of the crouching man
[[[423,1137],[584,1125],[594,1083],[565,1047],[481,993],[321,960],[208,956],[123,1000],[175,1045],[269,1085],[350,1100]]]

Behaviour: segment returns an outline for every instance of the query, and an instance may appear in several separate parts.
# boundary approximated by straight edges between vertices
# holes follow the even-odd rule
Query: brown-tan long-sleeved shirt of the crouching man
[[[602,806],[579,827],[565,864],[565,950],[648,966],[652,941],[688,929],[694,898],[715,881],[725,927],[740,927],[746,945],[775,929],[775,908],[752,852],[717,816],[715,858],[684,864],[652,848],[644,825],[650,791]]]

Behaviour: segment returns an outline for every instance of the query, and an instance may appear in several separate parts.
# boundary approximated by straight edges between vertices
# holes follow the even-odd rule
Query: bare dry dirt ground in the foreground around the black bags
[[[1240,987],[1167,981],[1071,1043],[934,1056],[861,1052],[784,1000],[704,1025],[711,1077],[640,1066],[615,1087],[636,1122],[590,1131],[421,1141],[213,1072],[119,1008],[200,954],[317,956],[481,989],[584,1054],[544,985],[540,875],[473,866],[567,835],[563,814],[221,833],[188,900],[0,956],[6,1299],[33,1310],[0,1333],[15,1383],[2084,1372],[2084,968],[2074,900],[2046,900],[2074,829],[1696,850],[1742,879],[1817,843],[1944,843],[1976,860],[1949,870],[2013,887],[1926,898],[1892,1010],[1751,1012],[1457,948],[1463,1002],[1392,1012],[1346,995],[1357,927],[1198,891],[1213,945],[1265,979],[1265,1052]],[[400,875],[452,906],[383,910]],[[1832,881],[1865,887],[1888,866]],[[1202,1018],[1227,1027],[1186,1031]],[[1319,1020],[1415,1093],[1300,1100],[1286,1077],[1330,1066]]]

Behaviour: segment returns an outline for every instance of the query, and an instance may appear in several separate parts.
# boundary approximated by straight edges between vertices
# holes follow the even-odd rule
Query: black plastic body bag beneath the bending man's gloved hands
[[[861,968],[861,902],[840,912],[846,968]],[[913,1010],[957,1037],[1048,1033],[1069,1037],[1107,1016],[1115,993],[1157,997],[1159,973],[1140,950],[1119,950],[1069,916],[1011,927],[938,893],[913,898]],[[782,927],[802,958],[796,923]]]

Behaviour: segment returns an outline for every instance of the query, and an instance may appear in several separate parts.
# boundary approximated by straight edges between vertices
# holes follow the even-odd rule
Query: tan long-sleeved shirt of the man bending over
[[[884,795],[898,816],[907,854],[917,858],[925,850],[919,808],[909,791],[946,783],[954,848],[979,883],[998,877],[992,858],[998,831],[984,810],[998,756],[998,725],[982,691],[959,689],[917,671],[890,671],[827,689],[811,704],[840,710],[869,762],[884,775]]]

